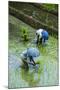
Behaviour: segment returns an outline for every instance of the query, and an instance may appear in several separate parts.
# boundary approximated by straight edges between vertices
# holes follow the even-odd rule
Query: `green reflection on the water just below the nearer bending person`
[[[28,85],[30,87],[32,86],[36,86],[39,82],[39,77],[38,77],[38,74],[35,73],[34,71],[33,72],[29,72],[29,71],[26,71],[26,70],[21,70],[21,77],[22,79],[24,79],[26,82],[28,82]]]

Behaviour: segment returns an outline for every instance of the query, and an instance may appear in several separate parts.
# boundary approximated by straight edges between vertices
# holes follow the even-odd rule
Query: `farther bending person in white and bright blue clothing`
[[[41,44],[45,44],[46,41],[48,40],[48,32],[44,29],[38,29],[36,31],[36,36],[37,36],[37,44],[40,42]]]

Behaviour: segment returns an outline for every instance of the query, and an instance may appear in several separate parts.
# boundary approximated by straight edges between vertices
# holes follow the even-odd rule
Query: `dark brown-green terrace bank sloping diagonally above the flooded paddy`
[[[51,12],[51,11],[50,11]],[[58,35],[58,15],[41,10],[29,3],[9,3],[9,14],[19,18],[35,29],[44,28]]]

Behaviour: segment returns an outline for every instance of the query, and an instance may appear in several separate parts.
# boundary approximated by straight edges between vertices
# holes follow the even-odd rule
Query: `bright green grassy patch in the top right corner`
[[[48,13],[54,14],[54,15],[58,15],[58,5],[56,4],[33,4],[35,7],[37,7],[38,9],[42,9],[43,11],[46,11]]]

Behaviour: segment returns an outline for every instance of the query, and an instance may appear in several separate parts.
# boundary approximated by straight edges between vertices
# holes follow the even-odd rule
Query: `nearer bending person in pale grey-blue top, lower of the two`
[[[28,48],[27,50],[24,50],[21,53],[21,60],[23,61],[23,64],[28,67],[28,64],[36,65],[34,61],[34,57],[39,56],[39,50],[37,48]]]

